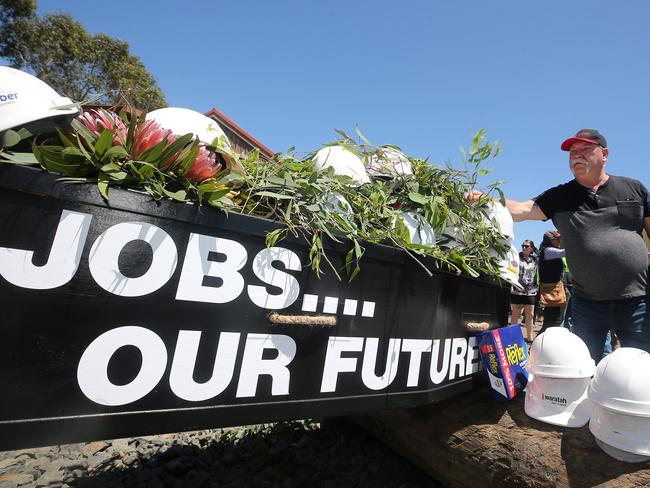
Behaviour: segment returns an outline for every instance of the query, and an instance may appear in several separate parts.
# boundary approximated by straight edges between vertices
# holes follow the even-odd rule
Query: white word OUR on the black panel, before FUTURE
[[[212,378],[196,383],[192,378],[198,342],[198,331],[180,330],[172,359],[170,388],[178,397],[202,401],[222,393],[232,381],[239,333],[222,332],[215,358]],[[142,355],[136,377],[126,385],[116,385],[108,378],[108,365],[118,349],[135,346]],[[277,351],[273,359],[263,359],[265,350]],[[244,347],[237,397],[254,397],[262,375],[272,378],[271,395],[288,395],[290,372],[287,367],[296,355],[296,342],[278,334],[248,334]],[[162,339],[144,327],[125,326],[109,330],[97,337],[83,352],[77,367],[81,391],[95,403],[108,406],[126,405],[151,392],[160,382],[167,366],[167,349]]]

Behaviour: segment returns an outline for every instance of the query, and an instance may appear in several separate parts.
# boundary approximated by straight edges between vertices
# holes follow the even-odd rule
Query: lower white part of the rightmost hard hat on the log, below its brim
[[[608,446],[650,459],[650,418],[612,412],[594,405],[589,430]]]

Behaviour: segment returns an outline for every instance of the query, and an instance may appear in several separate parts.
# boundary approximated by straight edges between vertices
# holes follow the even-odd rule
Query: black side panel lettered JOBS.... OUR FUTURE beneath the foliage
[[[0,167],[0,449],[436,402],[506,288],[369,246],[339,282],[280,224]],[[343,268],[345,245],[329,253]],[[333,316],[275,325],[269,313]]]

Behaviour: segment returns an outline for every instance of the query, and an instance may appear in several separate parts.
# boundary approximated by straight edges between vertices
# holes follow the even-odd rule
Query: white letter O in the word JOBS
[[[153,251],[149,269],[127,278],[119,269],[120,252],[132,241],[143,241]],[[173,239],[160,227],[146,222],[122,222],[106,229],[93,243],[88,258],[90,273],[104,290],[123,297],[153,293],[174,274],[178,253]]]

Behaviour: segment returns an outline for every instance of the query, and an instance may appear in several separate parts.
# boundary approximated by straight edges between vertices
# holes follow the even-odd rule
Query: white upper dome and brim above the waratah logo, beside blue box
[[[530,347],[526,369],[549,378],[590,378],[596,365],[582,339],[564,327],[549,327]]]

